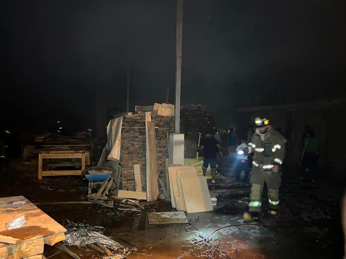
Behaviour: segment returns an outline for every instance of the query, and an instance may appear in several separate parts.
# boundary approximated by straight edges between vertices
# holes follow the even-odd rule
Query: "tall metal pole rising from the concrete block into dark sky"
[[[181,46],[183,38],[183,0],[176,1],[174,133],[180,129]]]

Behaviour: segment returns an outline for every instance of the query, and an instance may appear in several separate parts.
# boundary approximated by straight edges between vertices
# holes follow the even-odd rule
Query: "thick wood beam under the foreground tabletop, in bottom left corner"
[[[23,227],[23,228],[26,228],[26,227]],[[31,234],[34,235],[35,233],[33,232]],[[20,259],[20,258],[30,257],[33,255],[38,255],[40,253],[43,253],[43,250],[44,250],[43,238],[27,240],[18,244],[0,243],[0,258]]]

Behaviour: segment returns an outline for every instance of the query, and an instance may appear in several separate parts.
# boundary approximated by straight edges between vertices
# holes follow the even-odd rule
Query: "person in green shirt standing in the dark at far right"
[[[315,132],[309,129],[306,132],[303,152],[300,158],[302,163],[300,167],[299,179],[308,179],[311,180],[313,183],[315,182],[318,169],[318,145],[319,141],[317,138],[315,138]]]

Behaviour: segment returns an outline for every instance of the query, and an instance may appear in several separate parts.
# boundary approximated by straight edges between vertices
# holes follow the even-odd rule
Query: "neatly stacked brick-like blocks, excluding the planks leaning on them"
[[[158,115],[157,111],[151,111],[151,121],[157,127],[155,128],[157,174],[165,183],[165,159],[168,158],[167,133],[173,132],[174,117]],[[145,112],[122,118],[120,189],[135,191],[134,164],[140,165],[142,191],[146,191]],[[160,193],[162,193],[161,188]]]

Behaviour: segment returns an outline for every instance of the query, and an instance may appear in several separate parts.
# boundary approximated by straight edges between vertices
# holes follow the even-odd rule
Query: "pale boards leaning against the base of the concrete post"
[[[193,166],[168,167],[172,207],[188,213],[213,210],[207,180]]]

